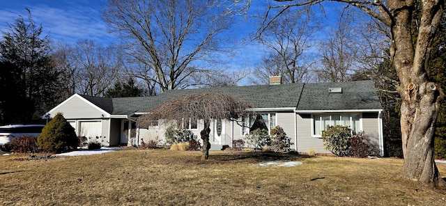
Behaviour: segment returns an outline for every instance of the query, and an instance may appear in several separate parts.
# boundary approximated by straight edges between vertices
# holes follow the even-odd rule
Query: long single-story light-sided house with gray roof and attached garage
[[[209,91],[228,93],[254,104],[247,109],[252,115],[236,121],[211,122],[211,145],[231,145],[233,140],[244,138],[254,118],[260,115],[268,129],[281,126],[291,137],[292,149],[298,152],[329,153],[323,147],[321,131],[326,125],[349,125],[356,132],[364,131],[380,154],[384,154],[383,109],[373,81],[168,90],[153,97],[107,98],[75,94],[44,117],[62,113],[79,136],[91,137],[92,141],[97,136],[95,141],[102,141],[104,145],[162,142],[166,125],[154,121],[148,128],[139,128],[137,118],[162,102]],[[199,136],[203,122],[185,121],[183,127]]]

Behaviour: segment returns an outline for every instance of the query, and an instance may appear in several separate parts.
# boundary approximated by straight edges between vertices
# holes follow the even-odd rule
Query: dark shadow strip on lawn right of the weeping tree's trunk
[[[213,161],[300,161],[314,158],[314,156],[298,154],[297,152],[228,152],[225,154],[211,154],[209,159]]]

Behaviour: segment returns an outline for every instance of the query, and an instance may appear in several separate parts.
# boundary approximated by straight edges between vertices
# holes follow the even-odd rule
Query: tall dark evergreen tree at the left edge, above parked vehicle
[[[49,37],[43,27],[20,16],[8,24],[0,40],[0,123],[31,122],[57,102],[59,72],[50,56]]]

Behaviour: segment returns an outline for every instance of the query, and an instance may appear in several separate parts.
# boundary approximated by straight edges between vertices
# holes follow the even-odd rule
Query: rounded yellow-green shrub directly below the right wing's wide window
[[[322,131],[325,150],[328,150],[339,157],[351,156],[350,138],[351,129],[348,126],[327,125],[327,129]]]

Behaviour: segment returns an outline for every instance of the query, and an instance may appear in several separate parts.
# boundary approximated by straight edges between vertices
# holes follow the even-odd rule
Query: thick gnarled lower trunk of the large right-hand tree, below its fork
[[[442,100],[443,92],[431,82],[409,84],[401,105],[402,176],[436,188],[445,187],[433,159],[434,125]]]

